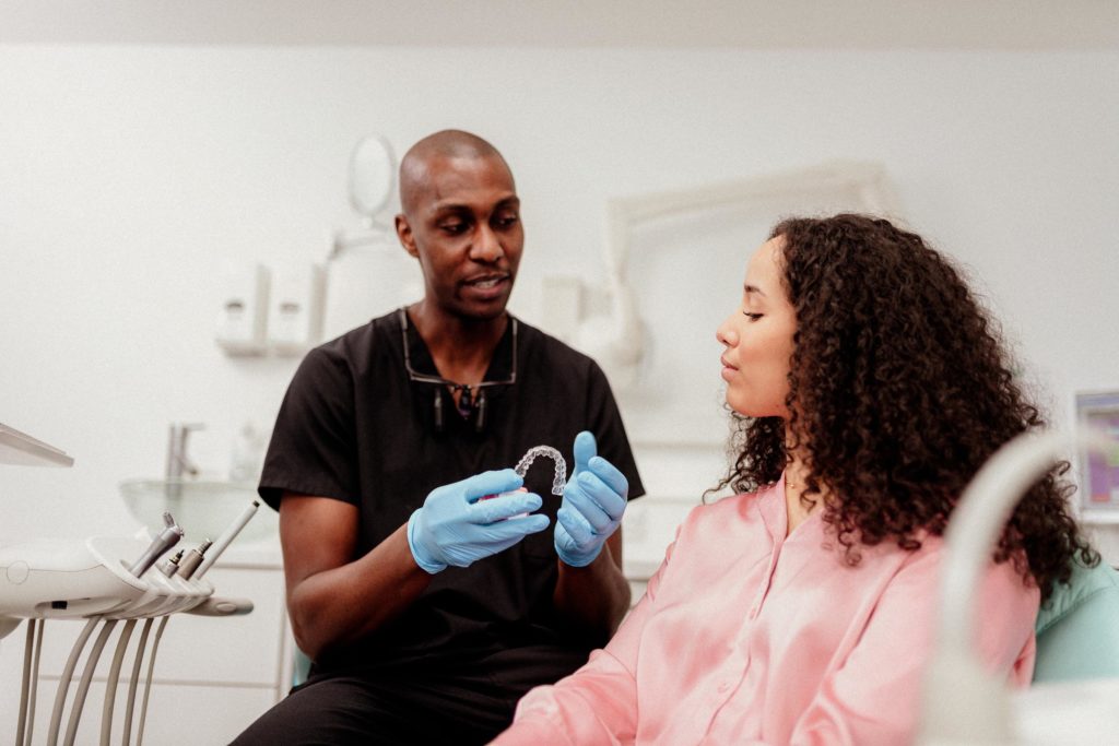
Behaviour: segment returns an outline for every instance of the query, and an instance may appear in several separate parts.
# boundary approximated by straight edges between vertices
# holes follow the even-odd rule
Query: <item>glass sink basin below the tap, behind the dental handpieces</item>
[[[264,504],[252,482],[166,481],[135,479],[121,482],[121,497],[129,512],[149,531],[163,529],[163,511],[170,511],[182,527],[184,540],[199,544],[215,540],[241,516],[253,500],[261,502],[233,546],[275,538],[276,512]]]

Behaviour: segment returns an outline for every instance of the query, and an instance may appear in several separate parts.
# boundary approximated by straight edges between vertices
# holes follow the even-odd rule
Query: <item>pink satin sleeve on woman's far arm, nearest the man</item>
[[[679,529],[676,531],[679,538]],[[657,591],[668,569],[674,541],[649,578],[645,596],[603,650],[583,668],[552,686],[537,687],[517,705],[513,725],[498,736],[499,746],[539,744],[630,744],[637,735],[637,653]],[[557,740],[563,738],[563,742]]]

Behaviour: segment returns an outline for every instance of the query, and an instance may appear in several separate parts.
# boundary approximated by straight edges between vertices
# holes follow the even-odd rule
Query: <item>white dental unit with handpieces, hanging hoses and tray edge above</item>
[[[73,459],[58,448],[0,424],[0,463],[69,466]],[[40,539],[0,547],[0,638],[11,633],[27,620],[22,689],[13,742],[16,746],[31,744],[43,631],[48,618],[85,620],[85,625],[58,680],[46,743],[49,746],[75,743],[97,661],[111,633],[122,621],[123,630],[105,681],[100,743],[109,744],[111,740],[116,684],[138,622],[143,623],[142,633],[133,652],[131,679],[124,698],[124,733],[120,735],[123,735],[122,743],[126,745],[135,731],[137,743],[142,743],[156,652],[170,615],[185,612],[204,616],[229,616],[247,614],[253,610],[251,601],[216,597],[214,585],[201,575],[209,567],[203,563],[208,559],[213,564],[220,550],[255,513],[257,504],[254,502],[223,533],[219,538],[222,546],[214,547],[217,551],[207,553],[209,540],[206,540],[187,553],[190,561],[186,565],[168,560],[163,566],[156,567],[159,559],[184,538],[181,527],[170,513],[163,514],[164,526],[150,541],[129,537],[90,537],[79,541]],[[177,572],[184,566],[190,569]],[[166,572],[168,567],[172,570],[170,574]],[[160,620],[159,625],[154,634],[149,634],[157,618]],[[100,632],[93,635],[98,626]],[[91,638],[95,640],[86,657],[76,692],[69,701],[68,718],[64,718],[69,684],[77,673],[79,659]],[[134,705],[145,655],[147,678],[139,708],[139,726],[134,728]]]

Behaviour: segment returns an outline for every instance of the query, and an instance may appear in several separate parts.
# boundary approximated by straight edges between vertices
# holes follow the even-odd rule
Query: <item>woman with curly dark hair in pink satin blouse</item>
[[[941,535],[1004,442],[1042,427],[996,325],[916,235],[791,219],[720,327],[737,459],[604,650],[521,699],[509,744],[903,744],[932,646]],[[1034,618],[1098,556],[1054,469],[980,580],[985,664],[1029,682]]]

